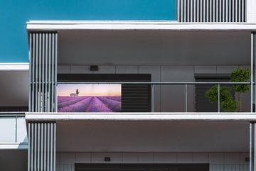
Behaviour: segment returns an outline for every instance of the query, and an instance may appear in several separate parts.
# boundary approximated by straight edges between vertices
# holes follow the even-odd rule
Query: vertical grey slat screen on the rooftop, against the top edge
[[[178,22],[246,22],[246,0],[178,0]]]

